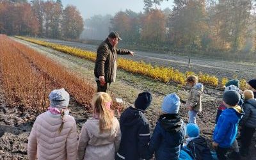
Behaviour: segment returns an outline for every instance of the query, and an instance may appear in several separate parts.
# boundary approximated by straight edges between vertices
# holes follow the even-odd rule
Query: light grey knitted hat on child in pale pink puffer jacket
[[[49,100],[52,108],[65,108],[69,103],[69,94],[64,88],[52,90],[49,94]]]

